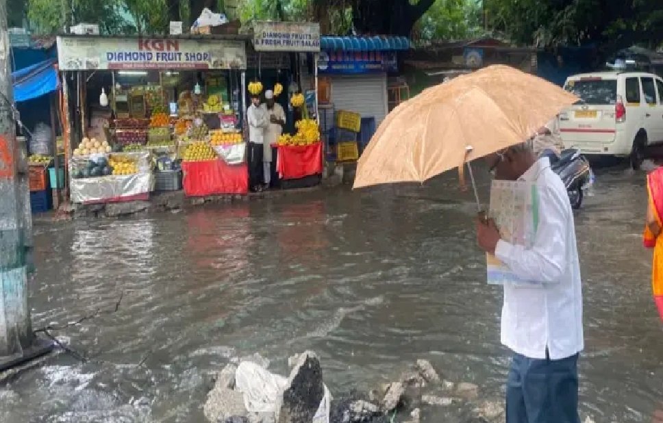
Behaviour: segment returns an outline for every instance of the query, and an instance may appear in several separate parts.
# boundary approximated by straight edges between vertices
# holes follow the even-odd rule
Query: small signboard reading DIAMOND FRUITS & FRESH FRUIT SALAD
[[[295,22],[253,23],[255,51],[294,51],[318,53],[320,51],[320,24]]]

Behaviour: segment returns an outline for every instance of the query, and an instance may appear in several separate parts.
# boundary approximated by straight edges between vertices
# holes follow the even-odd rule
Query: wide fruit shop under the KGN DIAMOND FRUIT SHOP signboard
[[[61,36],[73,203],[246,194],[245,36]]]

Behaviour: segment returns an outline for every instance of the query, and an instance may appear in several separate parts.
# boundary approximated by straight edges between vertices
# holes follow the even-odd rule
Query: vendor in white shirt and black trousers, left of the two
[[[251,105],[247,110],[249,123],[249,188],[254,192],[263,191],[266,187],[264,172],[265,131],[269,124],[266,108],[260,105],[260,94],[251,95]],[[271,150],[270,150],[271,151]]]

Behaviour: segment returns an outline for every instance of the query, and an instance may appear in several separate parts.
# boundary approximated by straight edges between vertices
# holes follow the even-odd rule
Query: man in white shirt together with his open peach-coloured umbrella
[[[506,394],[508,423],[578,423],[582,298],[575,227],[566,188],[532,142],[521,143],[564,108],[571,92],[510,66],[493,65],[439,84],[401,104],[380,124],[358,162],[354,188],[423,183],[486,157],[497,179],[536,185],[531,246],[501,239],[477,219],[477,241],[510,268],[501,340],[514,352]],[[464,175],[460,172],[461,177]],[[533,210],[534,211],[534,210]]]

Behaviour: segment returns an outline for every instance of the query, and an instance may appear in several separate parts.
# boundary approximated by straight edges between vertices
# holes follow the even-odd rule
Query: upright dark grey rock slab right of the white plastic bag
[[[277,405],[277,422],[312,422],[324,396],[320,360],[314,352],[304,352],[292,369],[281,403]]]

